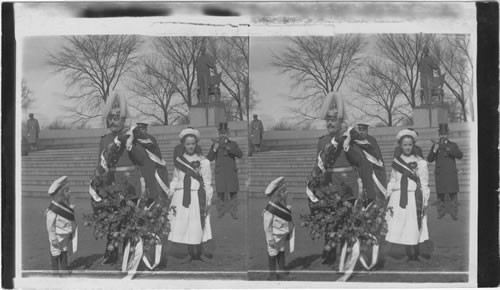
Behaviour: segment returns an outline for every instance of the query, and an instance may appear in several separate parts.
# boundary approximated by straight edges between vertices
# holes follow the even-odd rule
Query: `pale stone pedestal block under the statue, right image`
[[[447,105],[422,105],[413,108],[414,128],[434,128],[440,123],[448,123]]]

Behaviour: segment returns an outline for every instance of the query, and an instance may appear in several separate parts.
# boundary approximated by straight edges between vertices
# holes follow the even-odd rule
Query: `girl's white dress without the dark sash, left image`
[[[200,161],[200,173],[203,177],[206,192],[207,209],[210,207],[213,189],[212,189],[212,171],[210,161],[203,156],[184,154],[189,161]],[[210,214],[205,219],[205,228],[202,230],[200,222],[200,204],[198,201],[198,189],[200,183],[191,178],[191,204],[188,208],[182,205],[184,196],[184,172],[175,168],[172,181],[170,182],[170,195],[172,198],[171,207],[175,207],[175,215],[171,211],[170,234],[168,240],[175,243],[198,245],[212,238],[212,229],[210,227]]]

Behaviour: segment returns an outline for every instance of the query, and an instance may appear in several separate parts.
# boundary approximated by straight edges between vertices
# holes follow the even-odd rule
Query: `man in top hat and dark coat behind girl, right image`
[[[432,147],[427,161],[436,161],[434,169],[436,179],[436,193],[438,200],[435,203],[438,218],[443,218],[446,213],[456,220],[458,214],[457,192],[458,176],[456,159],[462,159],[463,153],[458,145],[448,139],[448,124],[439,124],[439,141],[432,140]]]

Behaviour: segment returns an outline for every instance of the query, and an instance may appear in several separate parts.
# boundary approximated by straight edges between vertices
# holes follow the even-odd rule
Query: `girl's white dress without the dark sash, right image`
[[[429,172],[427,162],[415,155],[404,156],[401,158],[406,162],[417,162],[417,175],[420,178],[422,187],[423,206],[427,207],[429,202]],[[408,204],[406,208],[399,206],[401,198],[401,177],[402,174],[395,169],[392,169],[391,180],[387,185],[387,195],[389,197],[388,207],[392,207],[393,214],[387,212],[386,220],[388,231],[386,240],[395,244],[416,245],[429,239],[429,231],[427,228],[427,215],[422,218],[422,226],[420,230],[417,224],[417,206],[415,203],[415,190],[417,184],[408,178]]]

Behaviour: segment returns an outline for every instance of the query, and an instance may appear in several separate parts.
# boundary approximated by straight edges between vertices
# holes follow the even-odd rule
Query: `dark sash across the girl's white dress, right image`
[[[401,173],[401,197],[399,199],[399,206],[401,208],[406,208],[408,204],[408,178],[417,183],[417,189],[415,190],[415,203],[417,206],[417,222],[418,228],[422,226],[422,215],[423,215],[423,194],[420,188],[420,179],[411,170],[410,164],[406,163],[401,156],[394,158],[392,162],[392,168]]]

